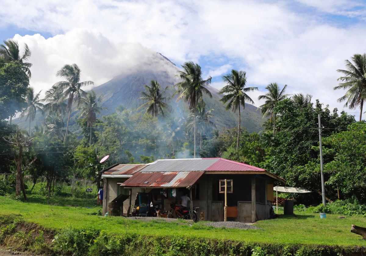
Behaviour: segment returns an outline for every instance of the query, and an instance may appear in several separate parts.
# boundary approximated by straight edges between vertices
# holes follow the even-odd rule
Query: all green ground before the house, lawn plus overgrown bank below
[[[205,250],[209,250],[209,255],[231,255],[230,250],[234,254],[250,255],[255,246],[268,250],[273,255],[282,255],[286,248],[293,254],[299,250],[311,252],[314,249],[312,253],[303,255],[318,255],[320,251],[357,251],[362,250],[359,246],[366,246],[365,241],[350,232],[351,224],[366,225],[366,219],[358,216],[340,219],[339,215],[328,214],[326,219],[320,219],[318,214],[311,211],[296,211],[295,216],[281,216],[255,223],[260,229],[222,229],[205,226],[204,222],[187,225],[184,221],[167,223],[134,221],[121,217],[106,218],[98,215],[101,207],[89,208],[85,202],[79,200],[66,198],[63,201],[60,197],[55,199],[57,200],[47,205],[44,204],[46,199],[38,195],[30,196],[28,202],[1,196],[1,244],[15,245],[12,238],[20,235],[23,238],[19,243],[27,241],[27,233],[34,229],[32,239],[37,237],[35,234],[38,234],[38,230],[44,231],[44,237],[52,237],[44,239],[46,244],[42,244],[41,238],[37,242],[29,238],[29,249],[32,249],[31,245],[42,245],[43,249],[38,248],[39,251],[44,252],[46,248],[51,248],[62,255],[71,255],[78,250],[92,251],[94,254],[91,255],[100,255],[97,251],[116,255],[124,250],[132,255],[143,253],[142,250],[148,252],[146,255],[162,255],[169,250],[178,255],[186,255],[188,252],[193,255],[207,255],[203,253]],[[18,228],[12,229],[11,223],[15,223]],[[53,238],[55,241],[51,243]],[[93,249],[94,245],[96,248]],[[200,249],[196,250],[197,248]],[[85,255],[81,252],[78,252],[79,255]]]

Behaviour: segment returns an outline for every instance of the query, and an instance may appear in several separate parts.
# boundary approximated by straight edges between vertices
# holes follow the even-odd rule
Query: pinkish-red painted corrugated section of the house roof
[[[205,159],[205,158],[203,158]],[[212,159],[212,158],[206,158]],[[206,172],[209,171],[236,171],[236,172],[246,172],[246,171],[254,171],[254,172],[264,172],[265,169],[261,169],[259,167],[247,165],[245,163],[239,163],[235,161],[231,161],[224,158],[214,158],[217,159],[211,166],[206,169]]]

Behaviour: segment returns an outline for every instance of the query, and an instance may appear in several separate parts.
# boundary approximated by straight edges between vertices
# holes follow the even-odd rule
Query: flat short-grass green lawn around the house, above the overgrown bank
[[[190,226],[182,225],[179,222],[131,221],[124,217],[105,218],[92,215],[101,209],[100,206],[95,205],[95,201],[55,197],[51,200],[51,205],[47,205],[44,204],[46,198],[40,196],[30,195],[29,202],[18,202],[11,200],[8,196],[0,196],[0,215],[20,214],[25,221],[34,222],[49,229],[93,227],[107,230],[112,234],[189,236],[271,244],[366,246],[366,241],[361,240],[361,236],[350,232],[352,224],[366,226],[366,218],[364,217],[339,219],[339,215],[327,214],[326,219],[320,219],[319,214],[305,211],[296,212],[296,217],[282,215],[277,219],[258,221],[255,226],[261,229],[217,229],[204,226],[202,223]]]

